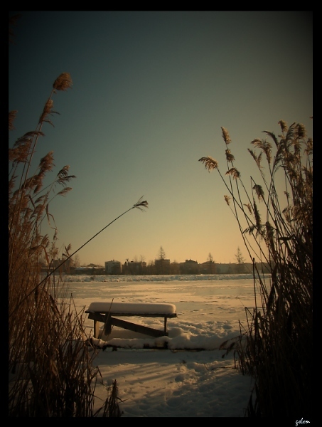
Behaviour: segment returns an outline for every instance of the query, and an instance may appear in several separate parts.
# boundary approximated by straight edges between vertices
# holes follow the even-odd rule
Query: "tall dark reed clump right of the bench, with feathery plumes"
[[[242,373],[254,379],[245,415],[309,420],[313,411],[313,140],[300,123],[287,126],[281,120],[279,125],[278,137],[264,131],[269,140],[252,141],[259,154],[253,149],[249,154],[261,181],[250,176],[249,191],[235,168],[224,127],[228,179],[212,157],[199,161],[220,174],[228,192],[225,201],[253,262],[255,307],[246,308],[247,327],[240,324],[240,337],[222,344],[222,349],[235,352]],[[264,262],[269,265],[269,280],[263,275]]]

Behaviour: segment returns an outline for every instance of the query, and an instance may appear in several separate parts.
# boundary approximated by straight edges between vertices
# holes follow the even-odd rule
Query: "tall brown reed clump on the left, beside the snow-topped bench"
[[[65,285],[59,279],[56,283],[50,270],[57,228],[49,204],[71,190],[68,184],[75,176],[65,166],[53,181],[46,181],[54,167],[53,152],[45,154],[32,172],[43,125],[53,124],[53,95],[71,85],[69,73],[55,80],[36,130],[9,149],[9,416],[95,416],[100,370],[87,344],[83,313],[77,312]],[[9,112],[9,130],[16,113]],[[45,219],[53,228],[53,240],[42,232]],[[43,262],[48,266],[45,278]],[[114,381],[103,416],[119,416],[117,407]]]

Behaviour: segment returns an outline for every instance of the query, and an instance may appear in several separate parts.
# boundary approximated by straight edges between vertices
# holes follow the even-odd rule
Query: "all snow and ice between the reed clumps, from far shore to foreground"
[[[168,337],[113,327],[111,334],[92,339],[93,366],[102,374],[95,390],[95,410],[106,399],[106,387],[116,379],[122,417],[244,416],[254,383],[235,369],[233,352],[225,355],[219,347],[239,336],[239,321],[247,325],[245,307],[254,307],[252,275],[131,279],[97,276],[93,282],[90,276],[70,276],[68,292],[77,312],[87,310],[92,302],[113,298],[112,304],[125,306],[166,302],[176,307],[177,317],[167,322]],[[119,318],[163,330],[163,318]],[[87,315],[84,325],[87,337],[92,337],[93,321]],[[99,325],[102,332],[103,324]],[[168,349],[156,349],[164,342]]]

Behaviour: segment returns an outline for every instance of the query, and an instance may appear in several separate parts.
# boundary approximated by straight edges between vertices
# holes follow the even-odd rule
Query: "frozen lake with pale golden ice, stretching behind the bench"
[[[168,320],[171,328],[195,331],[225,338],[239,331],[246,323],[245,307],[254,307],[254,283],[249,275],[203,276],[69,276],[67,292],[73,295],[77,310],[87,309],[91,302],[168,302],[176,305],[178,317]],[[72,281],[73,280],[73,281]],[[109,280],[109,281],[107,281]],[[142,325],[160,327],[163,319],[140,318]],[[86,315],[85,327],[93,322]],[[213,333],[211,332],[213,330]],[[133,334],[133,332],[131,332]],[[128,336],[129,332],[115,328],[112,337]]]

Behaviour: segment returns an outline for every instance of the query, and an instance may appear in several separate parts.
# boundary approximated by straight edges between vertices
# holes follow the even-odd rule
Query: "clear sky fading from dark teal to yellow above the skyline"
[[[247,258],[227,194],[221,127],[230,132],[245,184],[256,176],[247,152],[279,120],[312,136],[313,30],[306,11],[14,11],[9,45],[9,111],[18,110],[9,146],[36,129],[54,80],[73,88],[53,97],[34,164],[53,151],[73,191],[50,212],[57,246],[72,252],[141,196],[78,252],[80,263],[166,258],[202,263]],[[45,232],[45,231],[44,231]],[[50,236],[53,233],[50,232]]]

